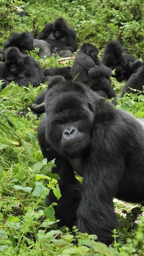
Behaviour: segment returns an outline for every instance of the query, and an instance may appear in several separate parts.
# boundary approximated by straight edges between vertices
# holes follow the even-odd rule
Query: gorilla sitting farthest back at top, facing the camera
[[[37,39],[47,41],[52,47],[54,56],[57,52],[60,57],[71,57],[72,52],[77,50],[76,32],[63,18],[56,19],[54,23],[48,23]]]

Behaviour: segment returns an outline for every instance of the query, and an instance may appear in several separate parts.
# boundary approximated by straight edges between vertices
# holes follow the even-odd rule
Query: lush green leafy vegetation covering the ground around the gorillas
[[[21,9],[27,10],[29,16],[19,17]],[[30,31],[35,38],[46,23],[61,16],[76,30],[79,45],[84,41],[93,43],[100,50],[100,57],[105,44],[118,39],[129,53],[142,60],[143,13],[142,0],[1,0],[0,45],[12,32]],[[59,57],[39,60],[36,52],[31,52],[31,56],[43,69],[62,66]],[[65,64],[72,65],[72,61]],[[118,95],[124,84],[112,78]],[[38,145],[36,130],[43,114],[37,119],[30,110],[35,97],[45,88],[46,84],[20,88],[12,82],[0,93],[0,255],[143,256],[142,204],[114,200],[120,228],[113,231],[114,242],[109,247],[96,242],[96,235],[79,233],[76,227],[72,233],[65,226],[59,228],[53,208],[57,202],[46,206],[45,197],[50,190],[57,199],[61,196],[60,177],[51,173],[54,160],[47,163]],[[116,107],[144,118],[142,94],[126,94]],[[27,118],[15,114],[22,109],[29,110]]]

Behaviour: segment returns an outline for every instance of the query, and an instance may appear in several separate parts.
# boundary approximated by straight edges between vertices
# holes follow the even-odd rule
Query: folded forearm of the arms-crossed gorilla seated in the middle
[[[88,75],[91,78],[94,78],[94,77],[97,77],[97,76],[109,77],[109,76],[112,75],[112,71],[107,66],[105,66],[103,64],[100,64],[98,66],[95,66],[95,67],[91,68],[88,71]]]

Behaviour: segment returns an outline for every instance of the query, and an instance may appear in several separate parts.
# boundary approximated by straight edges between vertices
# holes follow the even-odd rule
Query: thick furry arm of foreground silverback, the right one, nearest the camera
[[[113,197],[125,167],[120,131],[111,129],[110,125],[104,127],[101,121],[93,130],[88,156],[91,161],[86,161],[81,203],[77,211],[79,231],[97,234],[99,240],[107,245],[113,242],[111,230],[118,227]]]

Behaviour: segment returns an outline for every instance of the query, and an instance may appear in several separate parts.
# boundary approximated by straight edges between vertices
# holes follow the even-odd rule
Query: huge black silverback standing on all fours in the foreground
[[[128,112],[114,109],[80,82],[54,85],[45,98],[46,116],[38,127],[44,157],[56,158],[61,198],[55,206],[59,225],[113,242],[118,227],[113,197],[144,200],[144,130]],[[75,178],[74,170],[83,176]],[[56,200],[51,193],[48,204]]]

